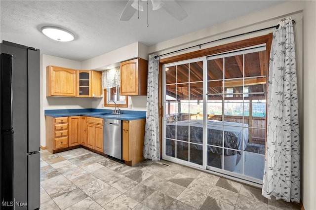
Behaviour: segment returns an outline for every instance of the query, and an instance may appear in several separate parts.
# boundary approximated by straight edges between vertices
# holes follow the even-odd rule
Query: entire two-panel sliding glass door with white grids
[[[163,66],[162,158],[261,183],[266,47]]]

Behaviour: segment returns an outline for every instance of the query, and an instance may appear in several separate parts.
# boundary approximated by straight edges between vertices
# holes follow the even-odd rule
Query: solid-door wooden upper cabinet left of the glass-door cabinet
[[[46,67],[46,96],[77,95],[77,73],[76,70],[63,67]]]

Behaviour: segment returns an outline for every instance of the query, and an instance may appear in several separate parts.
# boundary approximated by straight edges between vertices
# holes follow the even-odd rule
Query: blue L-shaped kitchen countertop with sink
[[[45,116],[68,117],[89,116],[116,120],[138,120],[146,118],[146,111],[121,110],[122,114],[112,114],[112,109],[80,108],[80,109],[52,109],[45,110]],[[102,113],[109,113],[102,115]]]

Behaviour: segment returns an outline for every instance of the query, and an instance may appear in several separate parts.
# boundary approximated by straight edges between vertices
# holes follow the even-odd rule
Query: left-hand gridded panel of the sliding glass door
[[[164,70],[165,154],[203,165],[203,61],[180,62]]]

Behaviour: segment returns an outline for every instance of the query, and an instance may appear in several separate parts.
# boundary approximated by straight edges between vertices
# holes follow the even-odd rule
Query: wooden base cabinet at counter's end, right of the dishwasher
[[[126,165],[133,166],[144,159],[145,119],[123,120],[122,156]]]

